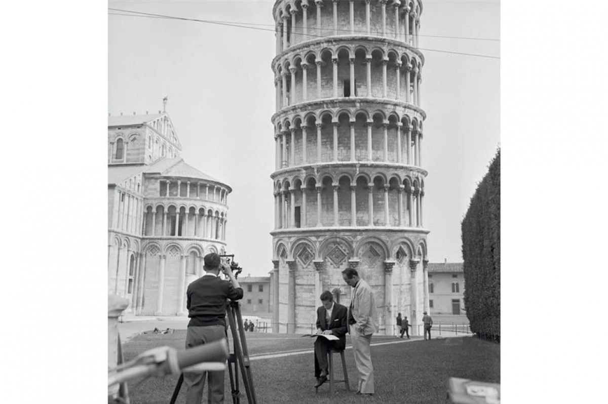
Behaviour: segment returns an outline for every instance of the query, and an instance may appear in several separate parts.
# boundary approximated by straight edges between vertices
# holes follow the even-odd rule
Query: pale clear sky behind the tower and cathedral
[[[271,31],[274,26],[274,0],[108,4],[185,18],[269,24],[256,27]],[[460,262],[460,223],[500,145],[500,60],[449,52],[499,57],[500,2],[427,0],[423,5],[423,164],[429,172],[424,227],[430,230],[430,262]],[[184,160],[233,189],[227,252],[252,276],[272,269],[271,31],[108,15],[108,112],[155,113],[168,96],[167,112]]]

